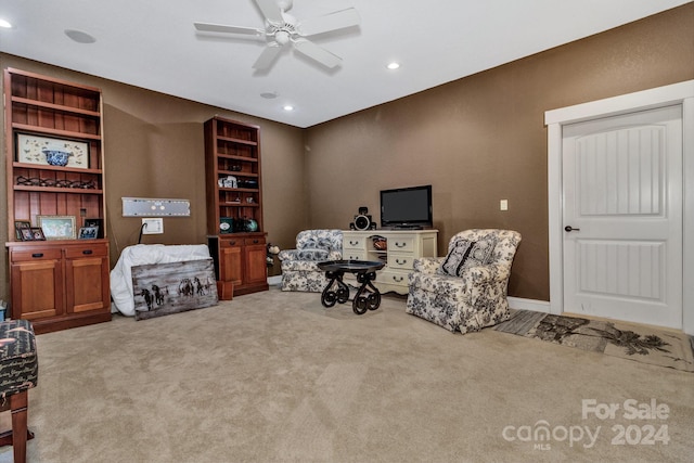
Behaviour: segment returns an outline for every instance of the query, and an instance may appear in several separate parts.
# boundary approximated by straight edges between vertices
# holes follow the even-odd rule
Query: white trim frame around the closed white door
[[[548,126],[550,313],[564,312],[562,126],[673,104],[682,104],[682,276],[685,282],[682,294],[682,329],[685,333],[694,335],[694,285],[686,284],[694,281],[694,80],[544,113],[544,124]]]

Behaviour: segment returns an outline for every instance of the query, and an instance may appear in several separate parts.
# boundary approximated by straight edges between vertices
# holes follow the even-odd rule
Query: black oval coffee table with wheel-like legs
[[[376,270],[381,270],[384,262],[371,260],[329,260],[319,262],[318,268],[325,271],[325,278],[330,280],[321,303],[323,307],[333,307],[335,303],[345,304],[349,300],[349,286],[343,281],[345,272],[354,273],[357,282],[361,284],[351,303],[351,308],[358,316],[367,310],[376,310],[381,306],[381,293],[371,282],[376,279]],[[336,288],[333,288],[336,286]]]

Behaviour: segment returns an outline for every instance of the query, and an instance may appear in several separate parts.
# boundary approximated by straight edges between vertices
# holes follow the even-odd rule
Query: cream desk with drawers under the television
[[[373,246],[373,236],[388,241],[386,250]],[[373,284],[381,293],[408,294],[408,273],[417,257],[437,257],[438,230],[343,231],[343,259],[378,260],[385,267],[376,272]]]

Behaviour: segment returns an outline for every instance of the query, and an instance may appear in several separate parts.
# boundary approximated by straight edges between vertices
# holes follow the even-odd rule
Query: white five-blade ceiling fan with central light
[[[265,29],[210,23],[193,24],[197,30],[203,33],[243,34],[265,37],[268,41],[267,47],[253,65],[253,68],[257,70],[269,68],[282,51],[282,48],[287,43],[292,43],[296,51],[325,67],[336,67],[343,60],[306,37],[358,26],[360,21],[359,14],[354,8],[299,22],[287,13],[292,9],[293,0],[255,0],[255,2],[265,16]]]

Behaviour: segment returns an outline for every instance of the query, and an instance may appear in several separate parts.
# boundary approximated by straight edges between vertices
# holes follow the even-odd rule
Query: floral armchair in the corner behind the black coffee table
[[[278,255],[282,262],[282,291],[321,293],[327,284],[318,262],[343,258],[342,230],[304,230],[296,235],[296,249]]]

